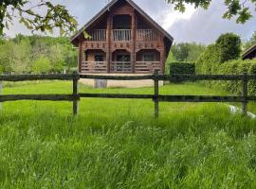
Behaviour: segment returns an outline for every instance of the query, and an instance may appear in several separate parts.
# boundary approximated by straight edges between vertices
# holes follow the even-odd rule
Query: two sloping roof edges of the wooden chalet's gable
[[[101,17],[101,15],[103,15],[104,13],[106,13],[107,11],[109,11],[109,9],[111,9],[113,6],[115,6],[120,0],[112,0],[111,2],[109,2],[103,9],[101,9],[101,11],[96,14],[87,24],[85,24],[84,26],[82,26],[82,28],[75,34],[73,35],[70,39],[71,42],[73,42],[74,40],[76,40],[76,38],[78,38],[82,32],[88,27],[91,26],[97,19],[99,19]],[[146,12],[144,12],[142,9],[140,9],[137,4],[135,2],[133,2],[132,0],[124,0],[127,3],[129,3],[134,9],[136,9],[145,19],[147,19],[153,26],[155,26],[159,31],[161,31],[165,37],[170,40],[172,43],[174,42],[174,38],[162,27],[159,26]]]

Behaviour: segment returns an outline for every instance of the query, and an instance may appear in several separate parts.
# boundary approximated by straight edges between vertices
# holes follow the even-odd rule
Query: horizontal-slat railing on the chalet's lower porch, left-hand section
[[[82,61],[82,73],[107,73],[106,61]]]

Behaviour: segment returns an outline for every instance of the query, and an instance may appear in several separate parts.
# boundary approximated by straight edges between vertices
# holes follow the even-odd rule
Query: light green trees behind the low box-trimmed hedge
[[[205,46],[199,43],[174,43],[171,49],[177,61],[195,61],[204,50]]]

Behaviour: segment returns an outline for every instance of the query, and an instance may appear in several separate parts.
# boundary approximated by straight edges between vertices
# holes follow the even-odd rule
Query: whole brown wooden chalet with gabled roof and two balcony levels
[[[163,73],[173,41],[131,0],[113,0],[71,39],[82,74]]]

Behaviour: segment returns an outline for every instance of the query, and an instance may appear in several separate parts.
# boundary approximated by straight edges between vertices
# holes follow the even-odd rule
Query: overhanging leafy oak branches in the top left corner
[[[4,28],[9,28],[13,18],[17,18],[28,29],[42,32],[53,32],[59,28],[60,33],[68,34],[77,29],[76,19],[68,13],[62,5],[53,5],[50,1],[39,0],[1,0],[0,1],[0,36]],[[38,13],[38,9],[46,9],[45,14]]]

